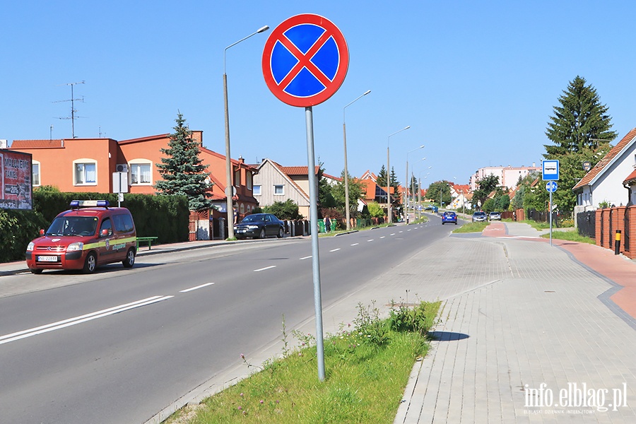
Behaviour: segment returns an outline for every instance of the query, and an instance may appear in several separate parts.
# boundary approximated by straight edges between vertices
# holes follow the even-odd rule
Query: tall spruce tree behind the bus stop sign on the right
[[[586,148],[596,151],[616,139],[616,131],[610,131],[608,107],[601,105],[596,89],[585,83],[585,78],[577,76],[560,96],[560,106],[554,107],[554,116],[546,129],[546,136],[554,144],[545,145],[544,158],[558,159]]]

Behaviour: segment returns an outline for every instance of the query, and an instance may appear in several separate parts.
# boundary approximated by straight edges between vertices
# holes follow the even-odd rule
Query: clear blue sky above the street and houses
[[[177,111],[225,152],[223,49],[263,25],[316,13],[341,29],[346,80],[313,108],[317,158],[343,170],[386,166],[423,185],[466,184],[479,167],[541,163],[553,107],[579,75],[619,139],[636,126],[631,1],[5,1],[0,139],[133,139],[172,132]],[[307,165],[305,110],[275,98],[261,71],[268,31],[228,49],[232,158]],[[618,140],[616,140],[618,141]],[[615,141],[615,142],[616,142]],[[427,160],[420,161],[426,157]],[[431,167],[430,170],[428,167]],[[454,179],[455,178],[455,179]]]

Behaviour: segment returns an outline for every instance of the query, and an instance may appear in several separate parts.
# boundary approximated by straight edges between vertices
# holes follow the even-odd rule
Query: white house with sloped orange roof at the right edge
[[[601,202],[635,204],[636,128],[596,163],[572,190],[577,194],[575,213],[599,208]]]

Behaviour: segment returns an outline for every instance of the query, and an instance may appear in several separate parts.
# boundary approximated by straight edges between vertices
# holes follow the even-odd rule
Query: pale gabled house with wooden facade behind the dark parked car
[[[254,197],[260,206],[271,206],[276,201],[291,199],[298,204],[300,215],[310,216],[309,167],[281,166],[271,159],[263,159],[254,175]],[[315,167],[316,190],[318,190],[318,171]]]

